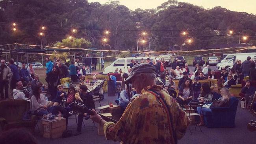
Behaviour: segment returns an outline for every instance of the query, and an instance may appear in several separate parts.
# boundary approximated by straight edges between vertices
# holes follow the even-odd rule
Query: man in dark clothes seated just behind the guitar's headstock
[[[79,91],[80,91],[80,97],[83,100],[83,104],[88,108],[88,109],[95,109],[95,104],[93,101],[93,96],[87,92],[87,87],[86,85],[80,85]],[[89,115],[88,115],[89,116]],[[82,123],[83,123],[83,118],[88,117],[86,114],[78,114],[78,122],[77,122],[77,132],[74,135],[80,135],[81,129],[82,129]]]

